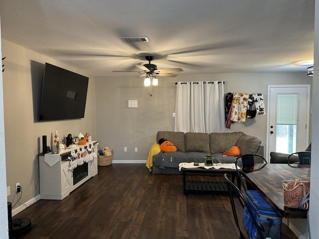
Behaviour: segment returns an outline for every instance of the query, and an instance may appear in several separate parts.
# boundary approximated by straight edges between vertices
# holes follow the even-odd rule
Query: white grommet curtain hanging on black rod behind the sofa
[[[177,82],[175,131],[226,132],[224,82]]]

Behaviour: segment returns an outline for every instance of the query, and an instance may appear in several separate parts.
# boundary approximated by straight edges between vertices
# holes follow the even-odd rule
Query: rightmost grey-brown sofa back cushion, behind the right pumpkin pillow
[[[227,148],[236,145],[238,138],[243,134],[243,132],[210,133],[210,153],[223,153]]]

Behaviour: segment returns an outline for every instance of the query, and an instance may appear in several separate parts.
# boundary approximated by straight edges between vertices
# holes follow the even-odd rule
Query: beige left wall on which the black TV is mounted
[[[15,183],[19,182],[23,190],[20,203],[29,205],[39,195],[38,153],[42,151],[42,135],[47,135],[48,145],[55,130],[58,130],[60,140],[68,133],[78,135],[79,132],[88,132],[93,140],[96,139],[95,80],[80,69],[68,67],[4,39],[1,39],[1,43],[2,56],[6,56],[2,77],[6,186],[11,189],[7,201],[12,202],[12,205],[16,202]],[[39,83],[43,81],[45,62],[89,77],[84,119],[36,121],[41,93]],[[13,208],[13,214],[19,206],[17,204]],[[20,207],[21,210],[25,208]]]

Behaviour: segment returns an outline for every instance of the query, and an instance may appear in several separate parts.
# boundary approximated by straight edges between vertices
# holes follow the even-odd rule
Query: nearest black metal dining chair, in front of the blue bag
[[[224,174],[224,177],[225,177],[225,181],[227,185],[228,196],[230,199],[234,221],[239,231],[239,239],[250,239],[249,233],[247,232],[242,220],[244,207],[248,205],[247,199],[239,190],[239,188],[228,178],[227,173]],[[250,214],[252,223],[256,227],[257,235],[259,235],[261,239],[266,239],[267,235],[266,236],[263,235],[263,231],[265,232],[265,230],[263,229],[262,225],[257,223],[252,209],[247,206],[246,208],[247,208],[246,212]],[[280,238],[281,239],[298,239],[298,237],[284,223],[282,223],[282,226],[281,226]]]

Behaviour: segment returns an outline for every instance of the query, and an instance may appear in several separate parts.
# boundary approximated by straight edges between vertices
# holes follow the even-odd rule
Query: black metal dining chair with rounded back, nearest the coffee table
[[[259,165],[258,168],[255,168],[254,167],[255,164],[263,164],[263,165],[261,166]],[[260,170],[266,164],[267,164],[267,160],[259,154],[243,154],[236,158],[236,161],[235,161],[236,171],[238,174],[238,178],[240,179],[241,185],[243,185],[243,188],[245,191],[247,191],[247,189],[253,190],[253,187],[246,181],[246,186],[247,186],[246,188],[244,181],[242,179],[241,171],[239,170],[239,167],[241,167],[241,170],[256,171],[256,170]],[[241,188],[240,185],[238,185],[238,187]]]

